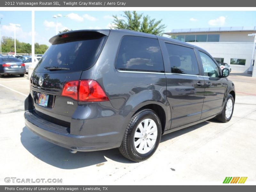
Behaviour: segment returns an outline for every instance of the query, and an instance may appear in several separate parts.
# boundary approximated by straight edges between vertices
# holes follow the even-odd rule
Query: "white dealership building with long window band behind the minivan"
[[[165,34],[205,49],[215,60],[230,64],[232,72],[247,73],[253,70],[250,66],[256,52],[254,36],[248,34],[255,33],[256,27],[219,27],[173,29]],[[254,69],[253,76],[256,76],[256,67]]]

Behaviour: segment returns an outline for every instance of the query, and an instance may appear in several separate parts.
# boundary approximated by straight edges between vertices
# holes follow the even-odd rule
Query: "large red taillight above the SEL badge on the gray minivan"
[[[92,79],[67,82],[61,96],[84,102],[108,101],[108,97],[100,84]]]

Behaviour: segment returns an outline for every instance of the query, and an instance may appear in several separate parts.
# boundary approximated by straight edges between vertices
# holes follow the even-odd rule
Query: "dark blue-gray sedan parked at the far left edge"
[[[0,77],[4,75],[20,75],[26,73],[25,64],[15,57],[0,57]]]

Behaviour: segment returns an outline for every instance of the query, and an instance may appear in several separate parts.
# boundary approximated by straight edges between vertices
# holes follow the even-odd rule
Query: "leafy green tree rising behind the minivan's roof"
[[[161,24],[162,20],[150,19],[148,15],[143,16],[142,13],[138,14],[136,11],[124,11],[122,16],[124,19],[119,19],[117,15],[113,15],[112,28],[129,29],[160,36],[163,35],[164,28],[166,28],[164,24]]]

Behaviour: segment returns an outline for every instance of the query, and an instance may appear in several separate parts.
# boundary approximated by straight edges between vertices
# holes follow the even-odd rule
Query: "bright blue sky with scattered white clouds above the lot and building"
[[[36,42],[47,44],[48,40],[55,35],[55,14],[62,14],[58,18],[58,31],[65,28],[77,29],[100,29],[109,28],[113,21],[112,15],[120,16],[122,11],[36,11],[35,31]],[[138,11],[149,15],[156,20],[163,19],[162,23],[167,27],[165,32],[179,28],[207,28],[207,27],[238,27],[256,26],[255,11]],[[8,26],[10,22],[19,23],[16,29],[17,39],[31,43],[31,12],[1,11],[2,36],[12,36],[13,29]]]

